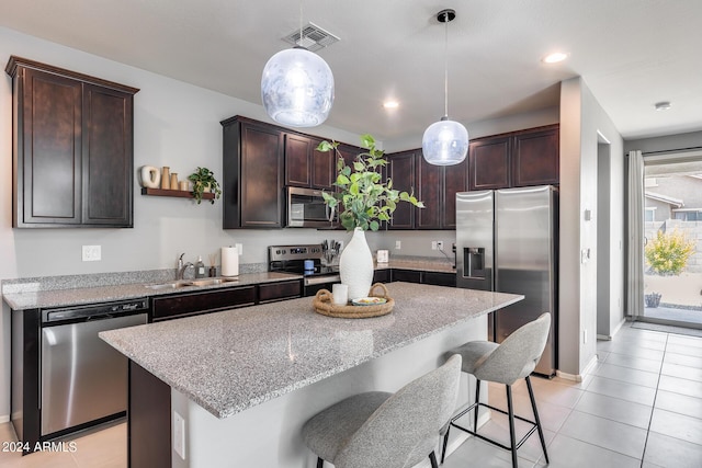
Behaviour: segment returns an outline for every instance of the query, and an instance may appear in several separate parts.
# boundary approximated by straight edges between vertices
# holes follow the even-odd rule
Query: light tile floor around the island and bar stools
[[[612,341],[598,343],[598,365],[581,383],[532,377],[551,468],[702,467],[702,338],[626,324]],[[490,387],[490,403],[506,408],[503,386]],[[529,393],[513,387],[518,414],[531,418]],[[518,433],[523,425],[518,424]],[[494,414],[482,431],[507,442],[506,418]],[[453,433],[458,431],[454,430]],[[522,432],[523,433],[523,432]],[[9,423],[0,442],[16,441]],[[520,467],[543,467],[539,437],[520,448]],[[126,467],[126,426],[118,424],[76,438],[76,450],[22,457],[0,452],[8,468]],[[445,468],[509,468],[510,454],[471,438]],[[262,467],[274,468],[274,467]]]

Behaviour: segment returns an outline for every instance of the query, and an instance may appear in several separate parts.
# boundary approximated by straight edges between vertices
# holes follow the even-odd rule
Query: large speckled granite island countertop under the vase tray
[[[101,332],[136,364],[217,418],[227,418],[523,299],[411,283],[372,319],[314,312],[312,298]]]

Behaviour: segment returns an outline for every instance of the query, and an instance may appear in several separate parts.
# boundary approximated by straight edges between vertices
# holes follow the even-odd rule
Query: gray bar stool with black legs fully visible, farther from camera
[[[529,375],[534,370],[534,368],[536,367],[536,363],[539,363],[539,359],[541,358],[541,354],[544,352],[544,347],[546,346],[546,339],[548,338],[550,327],[551,315],[542,313],[536,320],[531,321],[513,331],[512,334],[507,336],[507,339],[500,344],[489,341],[471,341],[463,346],[451,350],[449,353],[446,353],[448,355],[460,354],[463,357],[462,370],[464,373],[474,375],[477,379],[477,385],[475,390],[475,402],[451,419],[451,423],[449,424],[449,427],[443,437],[441,463],[443,463],[443,459],[446,455],[449,431],[452,426],[465,431],[468,434],[473,434],[474,436],[495,444],[501,448],[511,450],[513,468],[518,467],[517,449],[522,446],[522,444],[526,441],[526,438],[529,438],[530,435],[534,433],[534,431],[539,431],[541,446],[544,450],[544,458],[546,459],[546,464],[548,463],[548,454],[546,453],[544,432],[541,427],[541,421],[539,420],[536,400],[534,399],[534,391],[531,387]],[[531,407],[534,412],[534,421],[514,415],[514,408],[512,406],[512,384],[521,378],[526,380],[529,398],[531,399]],[[505,386],[507,387],[507,411],[480,402],[480,380],[505,384]],[[508,415],[510,438],[509,447],[477,433],[479,407],[486,407]],[[473,410],[475,410],[473,415],[473,430],[458,425],[455,422],[457,419]],[[514,418],[531,424],[531,429],[519,441],[519,443],[516,442]]]

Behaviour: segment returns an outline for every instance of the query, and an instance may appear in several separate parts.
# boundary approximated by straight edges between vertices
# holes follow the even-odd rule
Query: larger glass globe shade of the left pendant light
[[[331,111],[333,75],[317,54],[301,47],[281,50],[263,68],[261,99],[275,122],[314,127]]]

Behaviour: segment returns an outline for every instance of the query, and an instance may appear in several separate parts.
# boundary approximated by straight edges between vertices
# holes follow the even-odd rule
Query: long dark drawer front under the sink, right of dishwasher
[[[256,304],[256,286],[179,294],[152,299],[152,321],[234,309]]]

